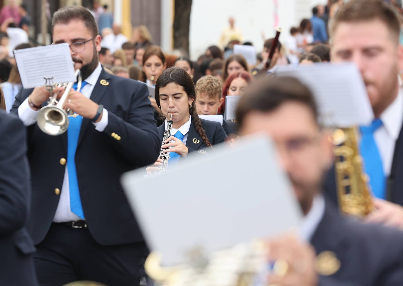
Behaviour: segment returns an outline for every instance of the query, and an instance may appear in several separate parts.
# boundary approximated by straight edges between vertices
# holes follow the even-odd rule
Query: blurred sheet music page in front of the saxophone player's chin
[[[274,76],[294,76],[314,93],[326,127],[368,125],[374,119],[364,81],[354,64],[278,66]]]

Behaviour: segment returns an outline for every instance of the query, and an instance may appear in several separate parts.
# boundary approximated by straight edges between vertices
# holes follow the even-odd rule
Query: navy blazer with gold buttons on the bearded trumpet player
[[[11,112],[18,113],[19,105],[31,92],[20,91]],[[90,98],[108,110],[108,126],[99,132],[83,118],[75,154],[89,232],[102,245],[143,241],[119,180],[127,171],[154,163],[160,150],[147,86],[102,69]],[[55,189],[62,189],[66,165],[60,159],[67,156],[67,132],[49,136],[36,123],[27,130],[32,178],[28,229],[38,244],[46,236],[58,206],[60,195]],[[112,136],[115,134],[120,140]]]

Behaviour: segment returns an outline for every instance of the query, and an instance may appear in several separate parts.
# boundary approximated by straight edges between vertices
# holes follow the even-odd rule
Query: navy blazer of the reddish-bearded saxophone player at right
[[[399,174],[403,174],[403,128],[400,130],[399,137],[396,140],[391,174],[386,180],[386,200],[403,206],[403,176]],[[324,193],[330,201],[338,206],[334,165],[326,174]]]

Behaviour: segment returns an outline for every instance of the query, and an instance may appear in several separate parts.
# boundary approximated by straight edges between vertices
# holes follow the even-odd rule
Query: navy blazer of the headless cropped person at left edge
[[[0,284],[37,285],[35,247],[24,227],[31,187],[25,128],[0,110]]]

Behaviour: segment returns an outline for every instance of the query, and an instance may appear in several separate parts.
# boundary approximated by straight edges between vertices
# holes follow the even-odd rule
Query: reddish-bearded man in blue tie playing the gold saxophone
[[[330,34],[332,61],[357,65],[376,118],[370,126],[359,128],[364,171],[370,178],[376,208],[365,220],[403,229],[400,31],[399,17],[386,1],[352,0],[335,14]],[[334,169],[328,173],[325,191],[337,204]]]

